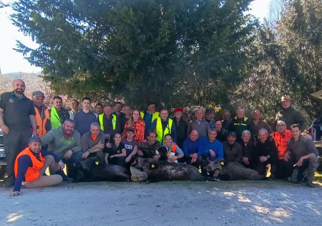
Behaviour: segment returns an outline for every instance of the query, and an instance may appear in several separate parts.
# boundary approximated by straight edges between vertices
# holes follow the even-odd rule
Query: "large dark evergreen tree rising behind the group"
[[[38,44],[17,50],[57,93],[208,104],[243,77],[252,0],[18,0],[12,20]]]

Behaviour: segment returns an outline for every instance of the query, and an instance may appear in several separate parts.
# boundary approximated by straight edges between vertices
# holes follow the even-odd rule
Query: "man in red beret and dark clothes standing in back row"
[[[172,119],[177,131],[177,145],[182,149],[183,141],[187,138],[187,122],[182,119],[182,108],[175,108],[173,110],[174,118]]]

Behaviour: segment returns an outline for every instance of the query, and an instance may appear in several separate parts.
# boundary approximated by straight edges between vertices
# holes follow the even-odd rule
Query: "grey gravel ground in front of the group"
[[[0,188],[0,225],[320,225],[322,186],[286,181],[63,183]]]

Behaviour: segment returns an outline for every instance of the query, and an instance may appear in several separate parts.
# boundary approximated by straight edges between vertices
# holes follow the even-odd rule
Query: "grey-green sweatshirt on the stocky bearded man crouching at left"
[[[82,151],[80,134],[77,130],[74,130],[72,137],[67,138],[63,136],[62,126],[60,126],[57,129],[49,131],[41,139],[43,142],[42,145],[48,145],[48,151],[53,151],[61,159],[63,159],[64,154],[70,149],[73,153]]]

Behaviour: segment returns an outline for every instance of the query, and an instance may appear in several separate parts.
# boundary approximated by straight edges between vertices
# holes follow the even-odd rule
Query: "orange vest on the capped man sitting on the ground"
[[[42,153],[39,153],[39,156],[41,158],[41,161],[37,159],[37,157],[32,153],[32,151],[29,148],[26,148],[25,150],[21,151],[14,162],[14,175],[17,178],[18,175],[18,159],[22,155],[28,155],[31,158],[32,161],[32,167],[28,167],[26,173],[25,173],[25,180],[24,182],[31,182],[36,180],[39,176],[39,170],[44,166],[45,157],[43,157]]]

